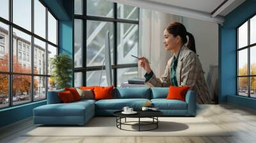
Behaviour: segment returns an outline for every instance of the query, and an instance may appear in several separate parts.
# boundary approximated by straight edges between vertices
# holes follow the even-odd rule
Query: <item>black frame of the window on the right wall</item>
[[[252,97],[251,96],[251,81],[250,81],[250,78],[251,77],[256,77],[256,75],[251,75],[251,64],[250,64],[250,50],[251,48],[255,47],[256,46],[256,43],[252,43],[250,44],[250,19],[252,19],[253,17],[256,16],[256,13],[253,13],[253,15],[251,15],[250,17],[248,17],[248,19],[244,20],[241,24],[239,24],[239,26],[236,27],[236,95],[237,96],[243,96],[241,94],[239,94],[239,77],[247,77],[247,96],[243,96],[243,97],[247,97],[247,98],[253,98],[255,99],[256,97]],[[243,26],[243,24],[245,24],[246,22],[248,22],[248,41],[247,41],[247,45],[244,46],[244,47],[241,47],[239,49],[239,27]],[[241,50],[244,50],[244,49],[247,49],[247,54],[248,54],[248,67],[247,67],[247,70],[248,70],[248,74],[247,75],[239,75],[239,51]]]

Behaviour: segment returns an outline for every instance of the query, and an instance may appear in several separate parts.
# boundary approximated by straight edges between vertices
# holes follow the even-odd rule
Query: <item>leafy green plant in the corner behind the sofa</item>
[[[51,59],[52,77],[56,81],[57,89],[70,87],[72,80],[72,59],[67,54],[59,54]]]

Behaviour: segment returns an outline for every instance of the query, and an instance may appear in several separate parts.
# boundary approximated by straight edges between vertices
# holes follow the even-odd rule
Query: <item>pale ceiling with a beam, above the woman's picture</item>
[[[222,24],[225,15],[245,0],[108,0]]]

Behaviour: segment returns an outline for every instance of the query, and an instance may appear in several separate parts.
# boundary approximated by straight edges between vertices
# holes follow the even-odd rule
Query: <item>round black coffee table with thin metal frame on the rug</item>
[[[126,130],[122,128],[123,125],[131,125],[131,126],[138,126],[139,130],[127,130],[127,131],[150,131],[158,128],[159,123],[159,116],[163,116],[163,112],[159,110],[138,110],[137,114],[122,114],[122,110],[114,112],[114,116],[116,116],[116,127],[120,130]],[[138,121],[126,121],[127,117],[132,118],[138,118]],[[141,121],[141,118],[151,118],[152,121]],[[122,122],[122,119],[125,119],[125,122]],[[131,124],[131,123],[138,123],[138,124]],[[141,126],[148,126],[148,125],[154,125],[153,128],[150,128],[148,130],[141,130]]]

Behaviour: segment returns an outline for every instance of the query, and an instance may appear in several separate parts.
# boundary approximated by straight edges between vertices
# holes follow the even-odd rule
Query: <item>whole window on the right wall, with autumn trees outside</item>
[[[256,16],[237,27],[237,94],[256,98]]]

